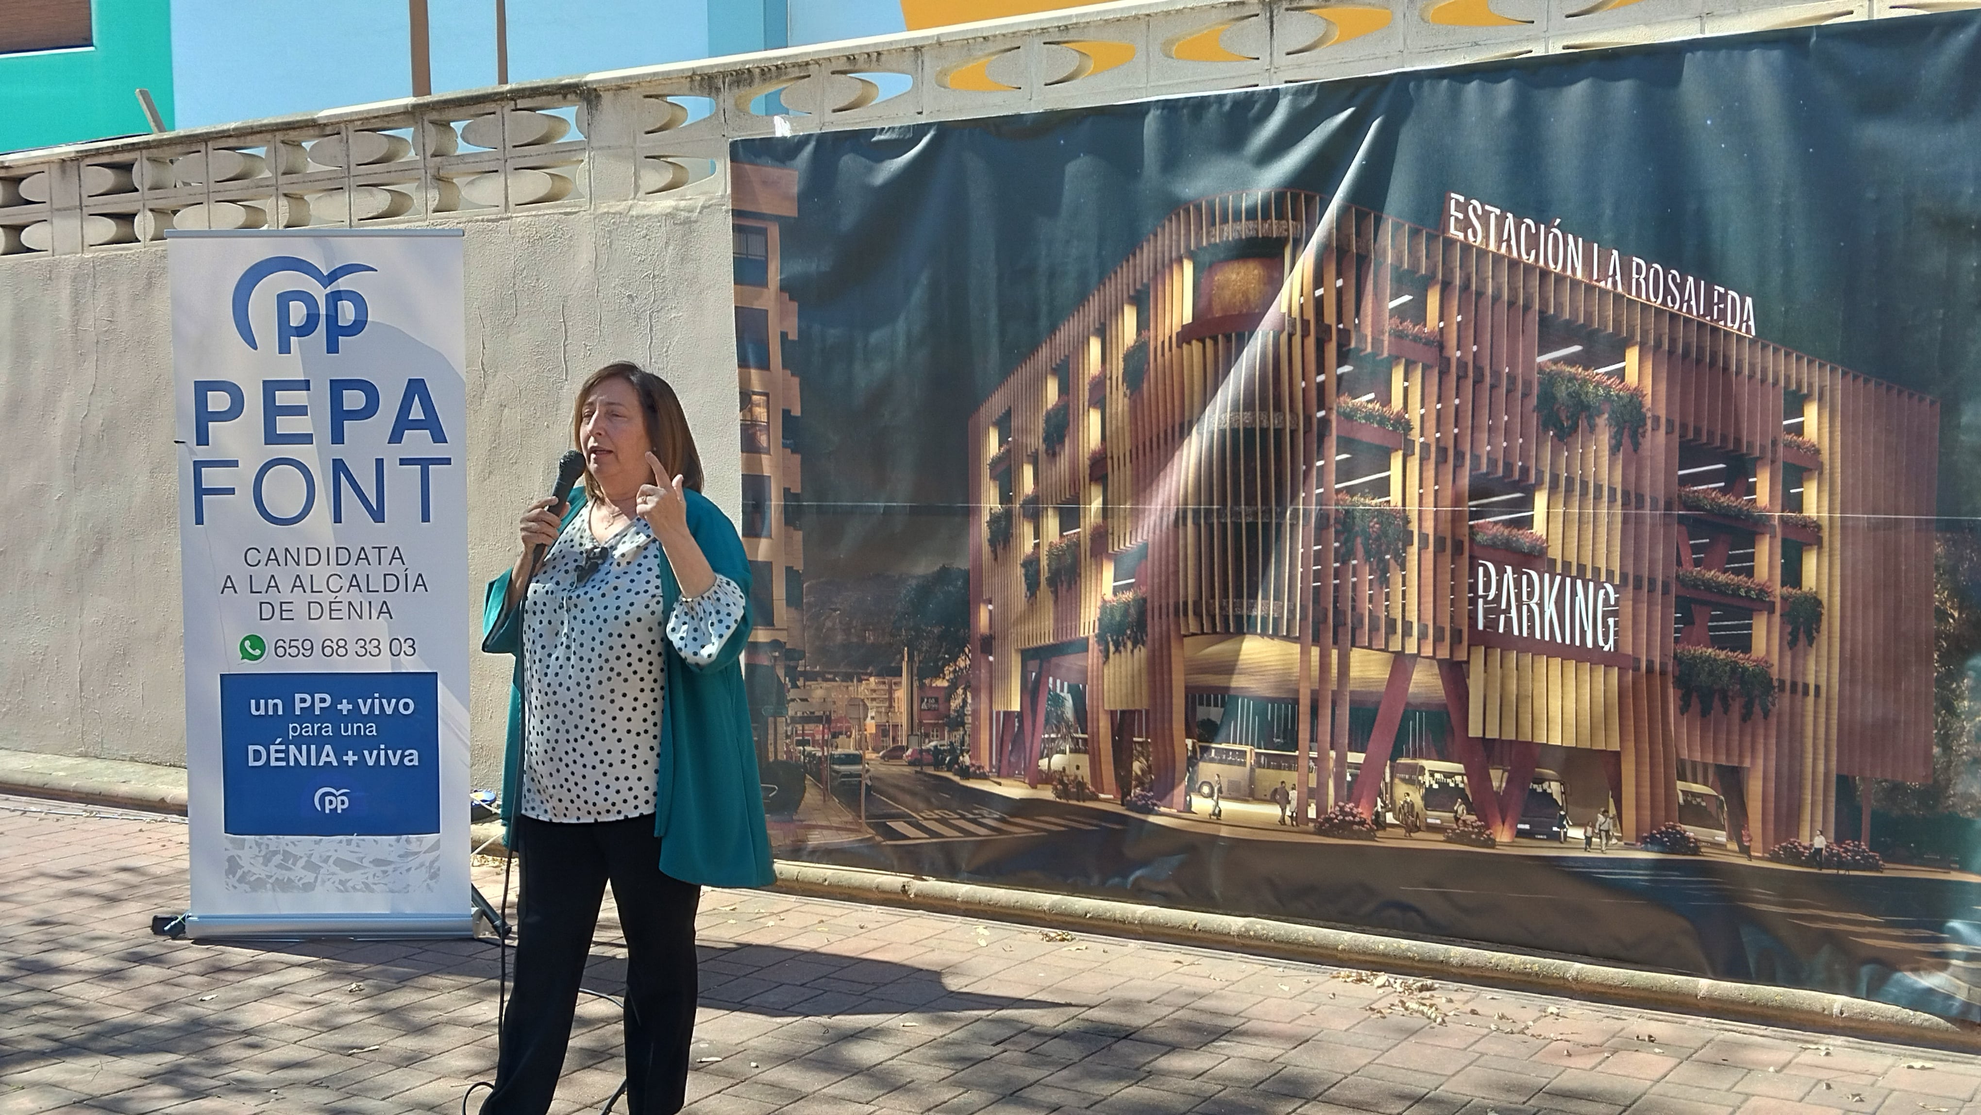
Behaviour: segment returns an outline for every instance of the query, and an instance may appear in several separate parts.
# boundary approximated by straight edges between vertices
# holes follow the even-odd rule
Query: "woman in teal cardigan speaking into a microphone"
[[[701,887],[773,881],[739,665],[749,560],[701,495],[681,402],[606,364],[571,436],[584,487],[563,515],[529,505],[483,610],[481,650],[517,656],[501,816],[523,867],[487,1115],[551,1107],[606,881],[628,951],[628,1111],[679,1111]]]

